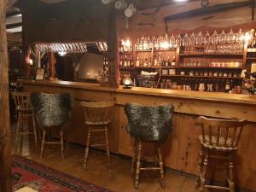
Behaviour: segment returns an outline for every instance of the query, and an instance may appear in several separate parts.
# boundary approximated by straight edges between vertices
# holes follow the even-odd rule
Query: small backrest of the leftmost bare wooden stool
[[[30,93],[15,91],[12,94],[15,99],[15,108],[20,109],[32,109],[30,105]]]

